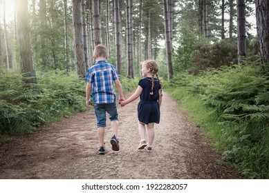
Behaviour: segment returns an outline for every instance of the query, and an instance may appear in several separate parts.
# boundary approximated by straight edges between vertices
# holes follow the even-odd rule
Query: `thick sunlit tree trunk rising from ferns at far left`
[[[37,83],[33,63],[33,51],[30,39],[30,25],[28,22],[27,0],[17,0],[17,24],[19,34],[19,55],[21,72],[25,73],[26,83]]]

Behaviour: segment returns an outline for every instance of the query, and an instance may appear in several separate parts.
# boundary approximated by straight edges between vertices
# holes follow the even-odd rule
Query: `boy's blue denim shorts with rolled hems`
[[[94,103],[94,111],[97,119],[97,127],[106,127],[106,112],[109,113],[110,121],[118,121],[116,103],[98,104]]]

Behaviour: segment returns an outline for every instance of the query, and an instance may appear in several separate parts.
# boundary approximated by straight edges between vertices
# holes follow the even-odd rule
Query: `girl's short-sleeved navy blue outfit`
[[[138,83],[142,87],[140,102],[138,103],[138,121],[144,124],[160,123],[160,105],[158,103],[160,82],[154,78],[153,95],[151,92],[151,78],[145,77]]]

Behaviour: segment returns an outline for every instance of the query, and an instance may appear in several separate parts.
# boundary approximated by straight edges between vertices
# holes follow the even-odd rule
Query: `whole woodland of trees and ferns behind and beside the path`
[[[124,91],[156,59],[164,90],[223,161],[269,179],[268,1],[1,0],[0,12],[1,143],[86,110],[84,77],[103,43]]]

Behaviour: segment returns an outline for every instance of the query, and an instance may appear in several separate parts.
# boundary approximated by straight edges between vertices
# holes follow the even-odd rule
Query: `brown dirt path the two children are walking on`
[[[119,152],[111,150],[108,127],[107,153],[97,154],[91,109],[1,145],[0,179],[239,179],[239,174],[220,164],[220,156],[210,149],[201,129],[167,93],[163,94],[161,120],[155,127],[150,154],[136,150],[140,139],[138,101],[134,101],[118,108]]]

